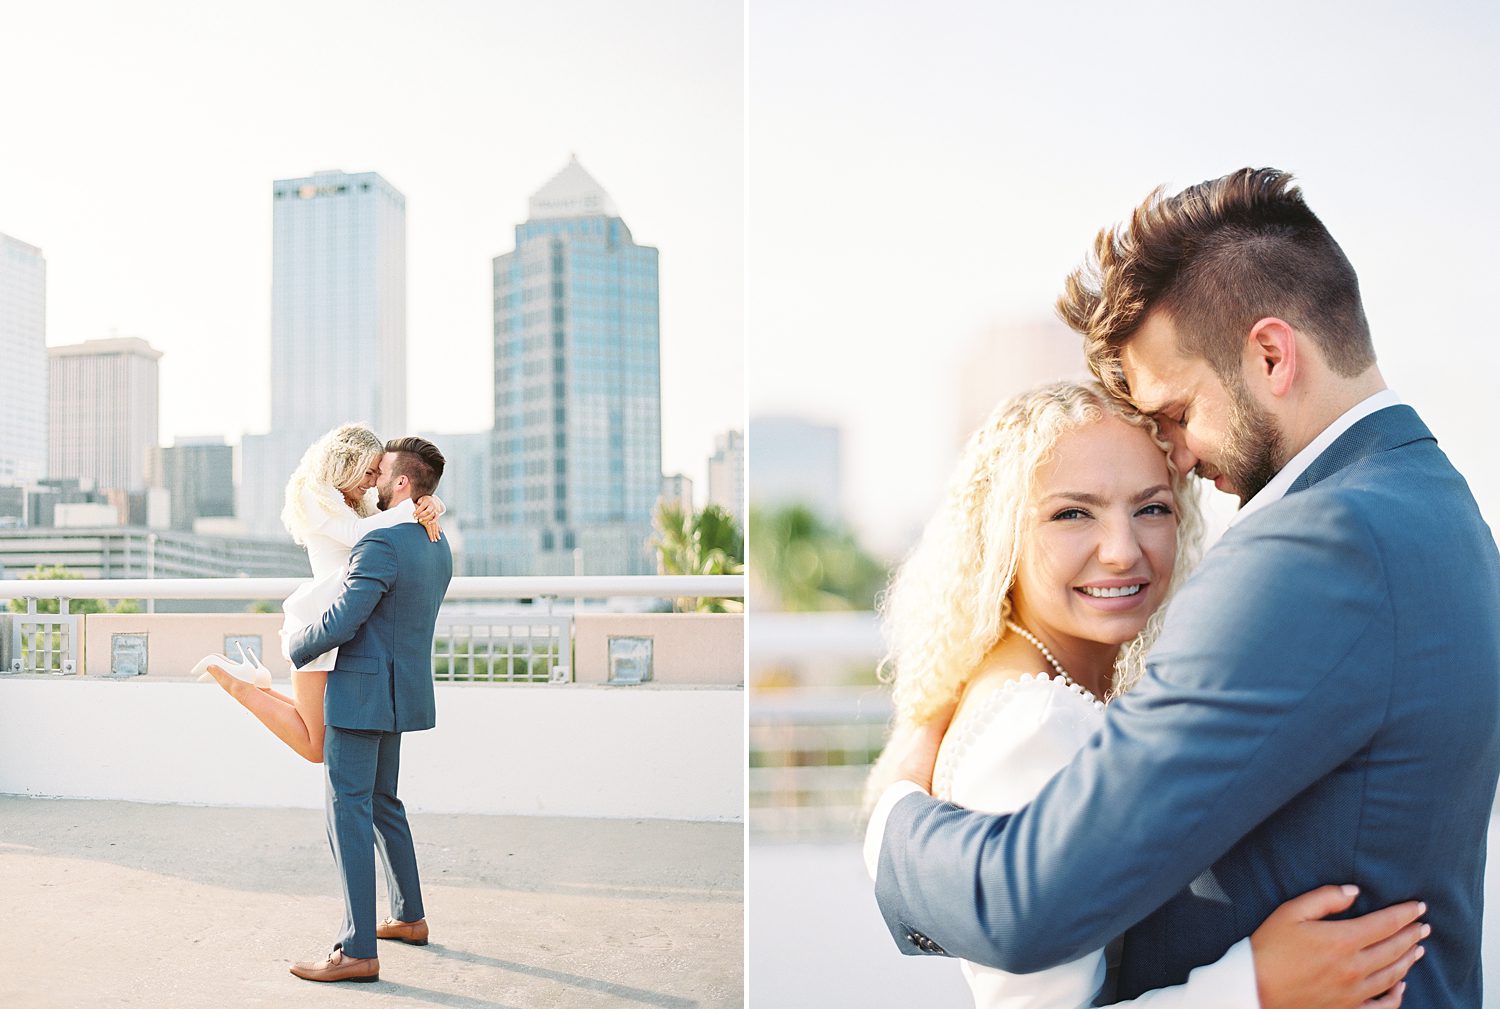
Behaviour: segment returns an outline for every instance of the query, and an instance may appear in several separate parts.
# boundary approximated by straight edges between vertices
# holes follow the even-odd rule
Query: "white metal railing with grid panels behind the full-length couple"
[[[9,579],[0,600],[24,600],[26,613],[0,619],[0,672],[75,673],[80,616],[72,600],[272,600],[292,594],[304,579]],[[434,676],[446,682],[570,682],[573,615],[558,600],[744,598],[744,577],[556,576],[459,577],[444,601],[532,600],[538,612],[440,615],[434,636]],[[56,600],[57,613],[38,603]]]

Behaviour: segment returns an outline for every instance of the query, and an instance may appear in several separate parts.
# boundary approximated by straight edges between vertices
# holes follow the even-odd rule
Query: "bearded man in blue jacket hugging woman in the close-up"
[[[1140,687],[1035,802],[938,802],[942,726],[896,744],[906,781],[867,835],[892,937],[1024,973],[1124,936],[1125,999],[1182,984],[1298,894],[1358,883],[1352,915],[1428,906],[1404,1006],[1480,1005],[1491,531],[1386,390],[1354,271],[1290,175],[1158,192],[1095,252],[1059,303],[1090,369],[1155,415],[1179,471],[1244,505]]]

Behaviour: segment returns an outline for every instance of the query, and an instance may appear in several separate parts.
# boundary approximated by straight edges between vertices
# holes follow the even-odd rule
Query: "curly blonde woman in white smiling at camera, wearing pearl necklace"
[[[1046,385],[996,409],[884,601],[896,730],[945,718],[957,702],[933,793],[988,813],[1034,799],[1138,679],[1200,540],[1194,489],[1154,423],[1098,385]],[[885,781],[878,766],[872,790]],[[1116,1005],[1398,1006],[1425,925],[1413,904],[1374,952],[1348,943],[1366,919],[1306,928],[1352,903],[1336,888],[1294,898],[1185,985]],[[1362,978],[1383,996],[1356,996],[1354,957],[1358,970],[1372,964]],[[978,1009],[1082,1009],[1101,991],[1106,951],[1032,975],[968,961],[963,973]]]

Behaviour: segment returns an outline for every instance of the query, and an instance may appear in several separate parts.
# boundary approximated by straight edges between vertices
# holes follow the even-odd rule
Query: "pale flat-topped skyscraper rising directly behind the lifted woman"
[[[320,435],[406,433],[406,198],[375,172],[272,183],[272,430],[248,435],[240,516],[280,532],[282,490]]]

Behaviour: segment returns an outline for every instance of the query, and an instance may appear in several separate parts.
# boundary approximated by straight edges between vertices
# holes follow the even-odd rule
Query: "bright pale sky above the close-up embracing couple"
[[[1048,318],[1156,184],[1274,165],[1494,526],[1497,67],[1500,7],[1452,0],[754,0],[752,415],[840,424],[846,510],[898,552],[975,340]]]

